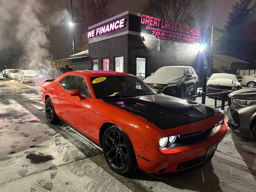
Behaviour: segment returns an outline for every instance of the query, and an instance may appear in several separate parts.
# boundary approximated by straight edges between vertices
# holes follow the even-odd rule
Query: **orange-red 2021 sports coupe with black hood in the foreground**
[[[41,86],[50,123],[59,119],[99,144],[110,168],[177,172],[212,158],[227,131],[211,107],[157,94],[136,76],[73,71]]]

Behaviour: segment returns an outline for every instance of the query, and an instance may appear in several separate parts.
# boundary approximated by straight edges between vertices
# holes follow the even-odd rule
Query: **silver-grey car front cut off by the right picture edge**
[[[250,133],[256,139],[256,87],[228,95],[227,124],[232,130]]]

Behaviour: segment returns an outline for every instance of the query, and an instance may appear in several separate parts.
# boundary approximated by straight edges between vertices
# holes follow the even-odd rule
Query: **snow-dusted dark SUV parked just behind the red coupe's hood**
[[[143,80],[156,92],[184,98],[188,93],[196,95],[198,76],[189,66],[161,67]]]

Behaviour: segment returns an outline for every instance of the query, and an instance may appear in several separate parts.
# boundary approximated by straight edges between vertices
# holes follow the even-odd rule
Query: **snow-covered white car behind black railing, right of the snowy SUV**
[[[243,86],[239,83],[241,81],[241,79],[238,80],[233,74],[214,73],[206,83],[206,92],[216,93],[242,89]]]

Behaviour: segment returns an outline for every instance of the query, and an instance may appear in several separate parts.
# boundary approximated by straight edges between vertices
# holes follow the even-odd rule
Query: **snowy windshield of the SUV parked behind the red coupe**
[[[154,76],[170,76],[170,77],[182,77],[184,75],[184,68],[181,67],[162,67],[159,68]]]

